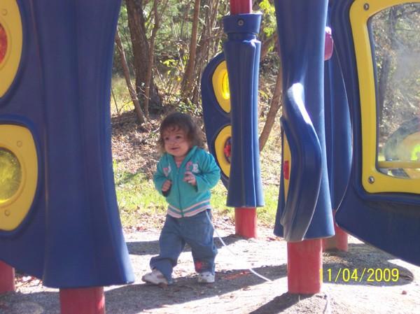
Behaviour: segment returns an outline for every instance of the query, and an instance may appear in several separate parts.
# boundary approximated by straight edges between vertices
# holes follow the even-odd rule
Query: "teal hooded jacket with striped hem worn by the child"
[[[197,185],[186,183],[183,178],[186,171],[194,174]],[[172,217],[190,217],[201,213],[210,206],[210,189],[221,178],[219,169],[213,155],[202,148],[194,146],[183,159],[179,168],[174,157],[165,152],[160,158],[153,176],[156,190],[166,197],[168,202],[168,215]],[[162,192],[162,185],[171,180],[169,192]]]

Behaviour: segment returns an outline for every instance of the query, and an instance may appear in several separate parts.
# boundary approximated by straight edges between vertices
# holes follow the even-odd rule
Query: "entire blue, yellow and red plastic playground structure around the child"
[[[274,233],[288,241],[288,291],[321,289],[323,239],[342,232],[334,213],[349,233],[420,264],[412,241],[420,236],[420,110],[417,104],[407,112],[409,122],[384,140],[378,135],[380,60],[374,59],[379,48],[372,30],[382,11],[415,12],[420,2],[275,5],[284,101]],[[14,173],[1,187],[0,259],[58,287],[62,313],[75,313],[71,306],[79,297],[90,299],[82,308],[98,308],[104,285],[134,280],[110,148],[109,84],[120,3],[5,0],[0,6],[0,47],[6,47],[0,49],[0,162]],[[228,41],[202,79],[209,149],[221,166],[228,206],[235,207],[237,233],[247,237],[256,236],[255,208],[263,206],[259,23],[251,1],[232,0],[231,15],[223,19]],[[332,55],[325,51],[326,27],[332,29]],[[8,265],[0,263],[0,292],[14,290]],[[103,313],[100,308],[88,313]]]

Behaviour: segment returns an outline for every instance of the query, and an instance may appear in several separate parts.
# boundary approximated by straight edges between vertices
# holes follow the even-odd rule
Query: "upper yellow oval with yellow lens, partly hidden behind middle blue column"
[[[216,67],[211,82],[213,83],[214,94],[216,95],[219,106],[221,106],[225,113],[230,113],[228,68],[226,67],[225,61]]]

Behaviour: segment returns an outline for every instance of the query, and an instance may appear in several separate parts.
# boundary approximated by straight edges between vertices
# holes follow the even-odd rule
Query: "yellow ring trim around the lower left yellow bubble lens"
[[[25,127],[0,124],[0,148],[10,150],[18,158],[22,180],[18,191],[0,203],[0,230],[16,229],[29,213],[38,180],[38,157],[34,138]]]

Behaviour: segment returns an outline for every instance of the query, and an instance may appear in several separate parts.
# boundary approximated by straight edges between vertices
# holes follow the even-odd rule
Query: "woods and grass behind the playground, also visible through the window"
[[[283,82],[272,0],[254,1],[253,11],[262,13],[258,110],[266,206],[258,208],[258,217],[271,225],[279,196]],[[160,119],[172,109],[201,117],[202,71],[222,51],[226,39],[222,18],[228,14],[228,0],[123,1],[111,110],[113,169],[125,226],[141,227],[139,221],[145,219],[142,215],[165,213],[165,202],[156,196],[151,183],[159,158],[155,142]],[[407,3],[377,13],[369,25],[381,158],[391,134],[401,125],[412,127],[412,118],[420,114],[419,14],[418,4]],[[226,193],[223,185],[214,190],[215,213],[233,215],[225,206]]]

